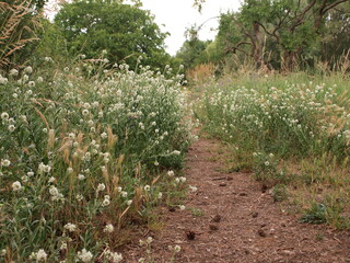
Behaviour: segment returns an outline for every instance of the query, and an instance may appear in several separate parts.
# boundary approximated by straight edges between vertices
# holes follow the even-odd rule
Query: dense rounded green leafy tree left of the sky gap
[[[140,55],[145,64],[162,67],[168,55],[164,49],[166,33],[162,33],[149,11],[140,3],[79,0],[66,3],[55,18],[70,53],[96,58],[107,52],[110,62],[126,60],[135,66]]]

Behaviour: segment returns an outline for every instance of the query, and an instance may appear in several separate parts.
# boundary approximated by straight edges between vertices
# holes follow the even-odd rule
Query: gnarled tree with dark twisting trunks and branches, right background
[[[271,37],[281,53],[281,67],[293,70],[300,55],[315,50],[319,44],[326,14],[348,0],[246,0],[242,7],[243,21],[250,23],[252,44],[257,43],[261,58],[261,33]],[[256,41],[253,41],[253,38]],[[318,41],[317,41],[318,39]]]

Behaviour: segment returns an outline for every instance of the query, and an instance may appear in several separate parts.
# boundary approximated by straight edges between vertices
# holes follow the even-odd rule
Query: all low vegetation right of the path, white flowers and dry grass
[[[348,87],[335,75],[241,76],[208,84],[196,112],[230,145],[231,171],[254,172],[301,221],[349,228]]]

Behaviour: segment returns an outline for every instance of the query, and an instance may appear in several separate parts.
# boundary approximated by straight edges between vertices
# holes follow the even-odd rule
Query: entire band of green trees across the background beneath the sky
[[[220,14],[214,41],[200,41],[200,26],[188,28],[174,57],[165,50],[168,33],[140,0],[66,2],[54,22],[43,18],[46,2],[0,1],[0,71],[44,56],[69,62],[103,50],[110,65],[126,61],[131,68],[141,55],[153,69],[167,64],[234,68],[233,60],[249,59],[257,69],[293,71],[317,61],[334,67],[350,49],[350,0],[244,0],[237,12]],[[195,0],[199,11],[205,2]]]

